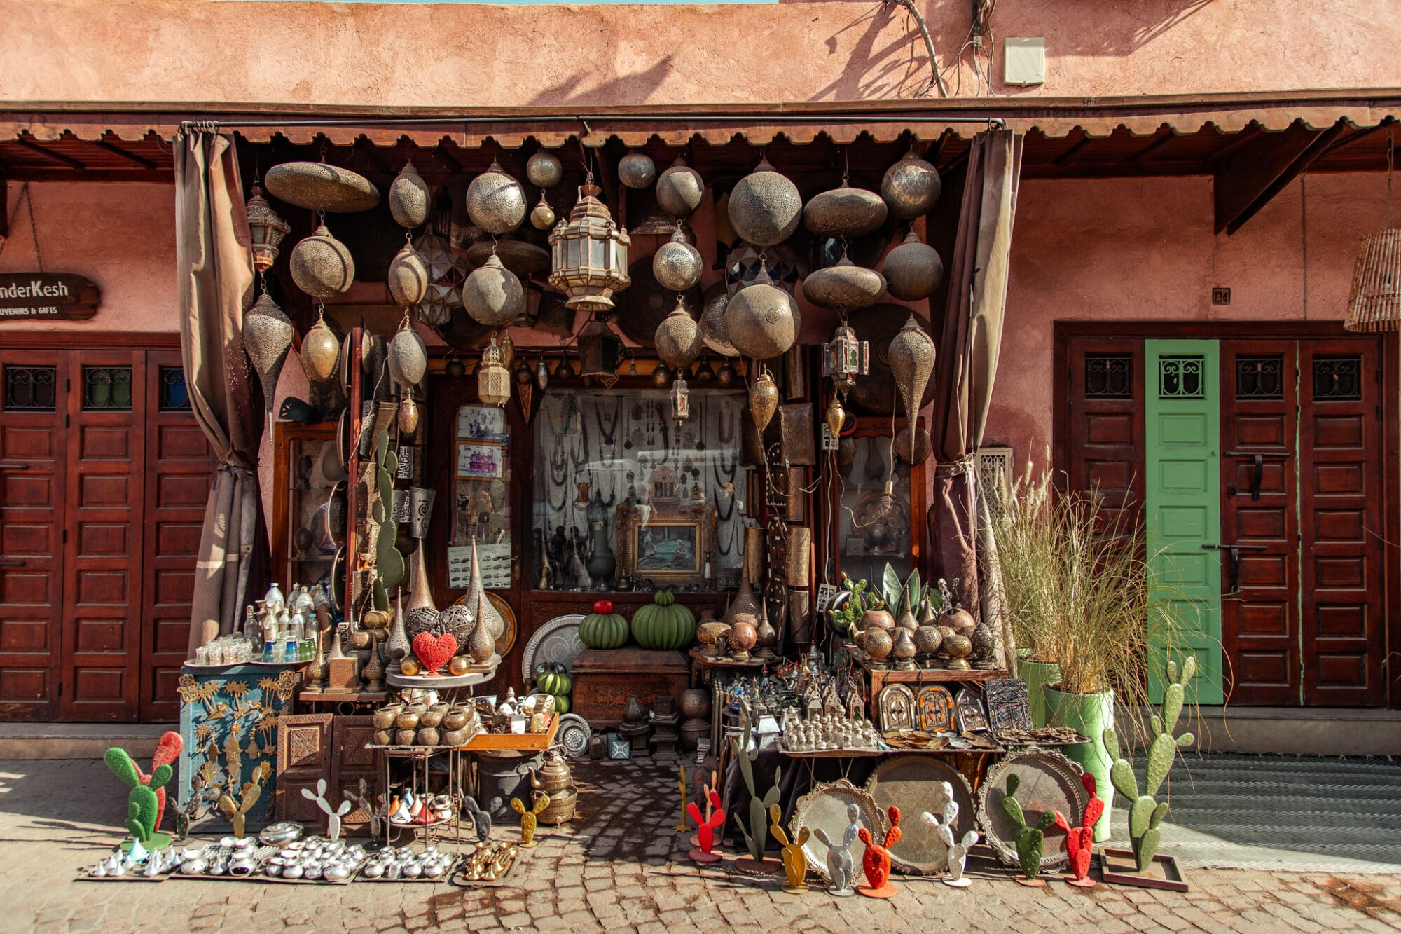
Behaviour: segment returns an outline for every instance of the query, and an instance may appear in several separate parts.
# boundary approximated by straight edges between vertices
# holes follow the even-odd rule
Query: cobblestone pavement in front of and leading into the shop
[[[577,769],[580,816],[551,829],[509,884],[268,885],[73,881],[116,840],[125,795],[101,762],[0,762],[0,930],[692,931],[1393,931],[1401,875],[1195,869],[1185,895],[1059,881],[1016,885],[978,864],[974,885],[899,878],[878,902],[754,881],[686,858],[674,777],[650,763]],[[667,794],[672,790],[672,794]],[[502,829],[500,833],[511,830]],[[717,864],[720,867],[724,862]]]

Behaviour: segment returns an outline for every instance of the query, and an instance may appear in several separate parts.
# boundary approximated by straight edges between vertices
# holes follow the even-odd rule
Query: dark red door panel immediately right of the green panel
[[[1222,631],[1233,704],[1297,704],[1297,341],[1222,342]]]

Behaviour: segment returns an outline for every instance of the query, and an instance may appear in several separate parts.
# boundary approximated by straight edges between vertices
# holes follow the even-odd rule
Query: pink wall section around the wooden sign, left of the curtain
[[[0,272],[38,269],[20,188],[8,185],[14,222],[0,252]],[[98,285],[102,303],[88,321],[0,321],[0,330],[179,330],[174,185],[31,182],[29,196],[45,271],[87,276]]]

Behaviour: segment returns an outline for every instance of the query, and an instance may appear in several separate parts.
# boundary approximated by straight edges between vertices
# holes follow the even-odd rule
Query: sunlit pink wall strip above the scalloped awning
[[[940,62],[968,0],[919,0]],[[1395,0],[1000,0],[998,94],[1397,87]],[[514,107],[909,97],[912,18],[876,0],[489,6],[0,0],[0,100]],[[1000,84],[1002,36],[1047,83]],[[950,73],[974,94],[965,63]]]

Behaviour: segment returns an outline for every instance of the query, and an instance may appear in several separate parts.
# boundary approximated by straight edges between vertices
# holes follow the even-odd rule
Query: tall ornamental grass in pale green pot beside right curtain
[[[1094,492],[1061,492],[1028,466],[1003,505],[992,523],[1000,596],[1017,644],[1030,647],[1019,675],[1047,724],[1090,738],[1065,753],[1096,778],[1105,809],[1094,839],[1107,840],[1118,750],[1105,747],[1104,732],[1115,703],[1125,712],[1149,704],[1150,670],[1189,654],[1181,613],[1191,602],[1166,579],[1168,562],[1147,560],[1135,516],[1105,509]],[[1140,745],[1138,717],[1125,719],[1119,733]]]

